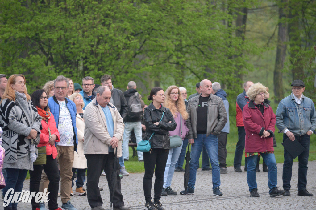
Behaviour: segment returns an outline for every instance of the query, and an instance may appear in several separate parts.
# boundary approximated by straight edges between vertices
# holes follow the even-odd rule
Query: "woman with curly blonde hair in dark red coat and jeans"
[[[277,168],[272,139],[275,131],[276,115],[272,108],[263,102],[266,93],[266,87],[261,83],[252,85],[246,92],[251,101],[244,106],[242,111],[246,131],[245,152],[248,158],[247,183],[251,197],[259,197],[256,182],[256,164],[259,155],[262,155],[269,168],[270,197],[285,193],[284,190],[276,187]]]

